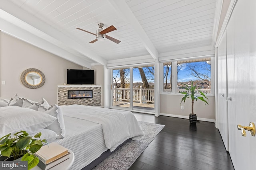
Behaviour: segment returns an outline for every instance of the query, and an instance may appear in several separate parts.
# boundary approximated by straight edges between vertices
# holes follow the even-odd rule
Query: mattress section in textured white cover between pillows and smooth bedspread
[[[75,154],[71,170],[80,170],[107,150],[102,125],[83,119],[64,116],[66,135],[54,142]]]

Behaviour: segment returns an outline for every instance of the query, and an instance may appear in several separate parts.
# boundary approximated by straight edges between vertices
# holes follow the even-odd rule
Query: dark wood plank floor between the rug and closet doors
[[[134,113],[138,121],[165,125],[129,170],[234,170],[218,129],[211,122]]]

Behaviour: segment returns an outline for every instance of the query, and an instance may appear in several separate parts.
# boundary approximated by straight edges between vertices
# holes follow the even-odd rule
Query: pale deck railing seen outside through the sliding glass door
[[[130,89],[129,88],[116,88],[113,89],[114,101],[130,101]],[[134,88],[132,94],[132,100],[140,103],[154,103],[154,89],[152,88]]]

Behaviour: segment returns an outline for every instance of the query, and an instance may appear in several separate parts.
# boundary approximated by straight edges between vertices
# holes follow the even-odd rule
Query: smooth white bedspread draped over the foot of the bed
[[[64,115],[102,125],[106,147],[113,151],[126,139],[143,135],[131,111],[84,105],[60,106]]]

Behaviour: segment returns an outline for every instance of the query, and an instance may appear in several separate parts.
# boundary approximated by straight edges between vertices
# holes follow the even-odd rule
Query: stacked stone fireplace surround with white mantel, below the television
[[[68,90],[92,90],[93,98],[68,99]],[[58,105],[80,104],[86,106],[101,106],[101,86],[99,85],[59,85]]]

